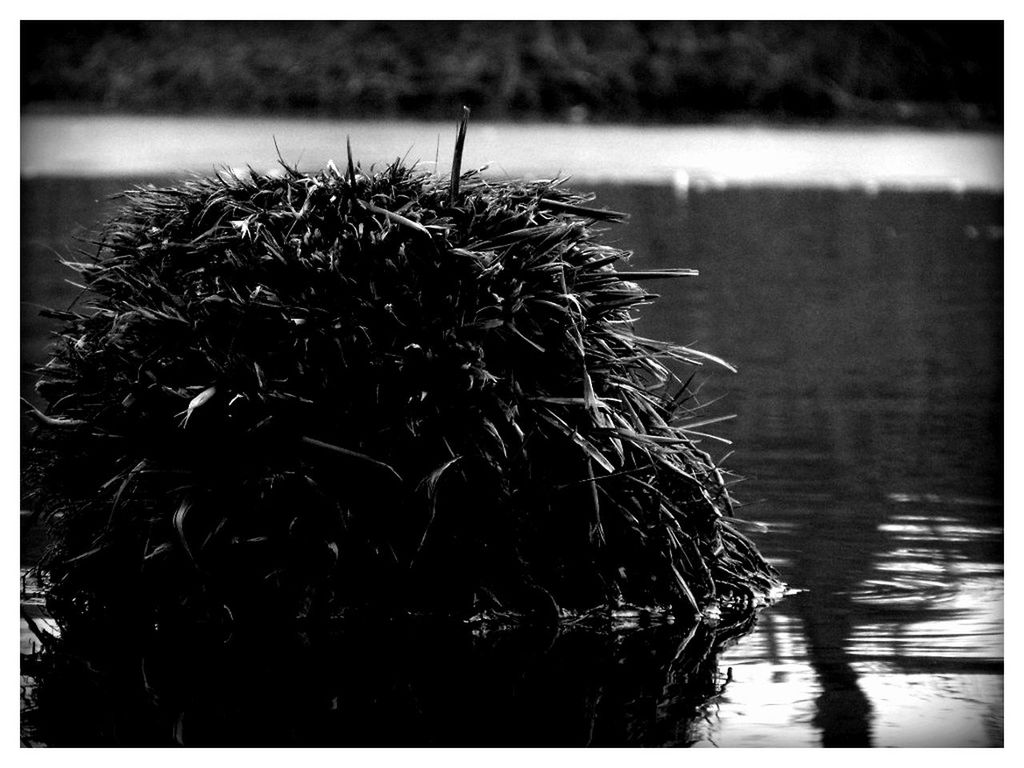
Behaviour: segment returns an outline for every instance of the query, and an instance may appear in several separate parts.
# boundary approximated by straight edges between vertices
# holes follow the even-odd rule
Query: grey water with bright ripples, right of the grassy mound
[[[1001,743],[1001,198],[602,193],[643,263],[700,269],[642,325],[739,368],[705,386],[737,416],[717,455],[806,590],[723,655],[715,742]],[[740,665],[782,673],[761,690],[795,662],[772,734]]]

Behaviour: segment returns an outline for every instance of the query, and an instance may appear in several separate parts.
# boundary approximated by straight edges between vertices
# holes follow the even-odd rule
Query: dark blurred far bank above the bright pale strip
[[[1001,22],[26,22],[27,112],[991,129]]]

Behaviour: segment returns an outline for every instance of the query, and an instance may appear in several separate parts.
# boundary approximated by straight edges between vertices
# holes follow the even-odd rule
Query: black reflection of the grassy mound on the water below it
[[[746,632],[403,622],[304,634],[71,636],[23,657],[47,745],[687,745]]]

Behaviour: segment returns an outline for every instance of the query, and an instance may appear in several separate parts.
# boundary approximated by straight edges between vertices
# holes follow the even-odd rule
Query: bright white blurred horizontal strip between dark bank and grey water
[[[404,158],[441,173],[454,121],[23,115],[23,178],[301,170],[345,158],[364,168]],[[276,148],[275,148],[276,147]],[[725,186],[1001,191],[1001,132],[905,127],[566,125],[471,122],[463,168],[495,177]]]

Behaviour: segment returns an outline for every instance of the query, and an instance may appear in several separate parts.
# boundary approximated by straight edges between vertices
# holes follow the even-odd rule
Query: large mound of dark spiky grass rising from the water
[[[457,152],[458,155],[458,152]],[[458,168],[458,161],[456,164]],[[558,180],[349,159],[139,187],[27,463],[58,617],[701,613],[779,586]]]

